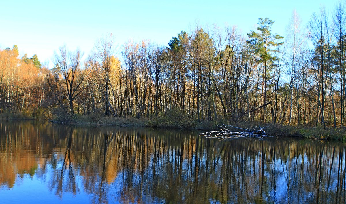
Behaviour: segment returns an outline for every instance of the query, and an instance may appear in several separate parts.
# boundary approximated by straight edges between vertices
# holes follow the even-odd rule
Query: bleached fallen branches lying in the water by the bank
[[[220,131],[210,131],[207,133],[200,133],[199,136],[204,136],[207,138],[219,138],[219,139],[225,139],[225,138],[241,138],[241,137],[257,137],[257,138],[263,138],[263,137],[272,137],[270,135],[267,135],[264,131],[265,127],[258,127],[258,130],[249,130],[249,129],[244,129],[240,127],[234,127],[231,125],[225,125],[222,124],[224,127],[219,126]],[[242,130],[240,132],[233,132],[227,127],[235,128]]]

